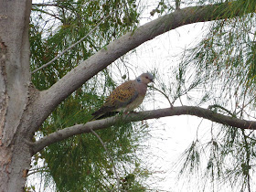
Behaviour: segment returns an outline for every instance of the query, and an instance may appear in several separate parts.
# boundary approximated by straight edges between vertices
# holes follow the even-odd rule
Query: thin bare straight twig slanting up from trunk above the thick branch
[[[59,53],[58,56],[56,56],[54,59],[51,59],[50,61],[48,61],[48,63],[46,63],[45,65],[42,65],[40,68],[37,68],[37,69],[33,70],[33,71],[31,72],[31,74],[37,72],[37,71],[40,70],[40,69],[44,69],[44,68],[48,67],[48,65],[50,65],[51,63],[53,63],[55,60],[59,59],[59,57],[62,56],[64,53],[66,53],[69,49],[74,48],[74,47],[75,47],[76,45],[78,45],[81,41],[83,41],[86,37],[88,37],[89,35],[91,35],[91,33],[92,33],[97,27],[99,27],[99,26],[101,25],[101,23],[102,23],[104,20],[106,20],[106,19],[107,19],[109,16],[111,16],[111,15],[112,15],[112,13],[109,14],[108,16],[104,17],[104,18],[100,21],[100,23],[98,23],[94,28],[92,28],[91,31],[89,31],[89,33],[88,33],[85,37],[82,37],[79,41],[77,41],[77,42],[74,43],[73,45],[69,46],[69,48],[66,48],[65,50],[63,50],[61,53]]]

